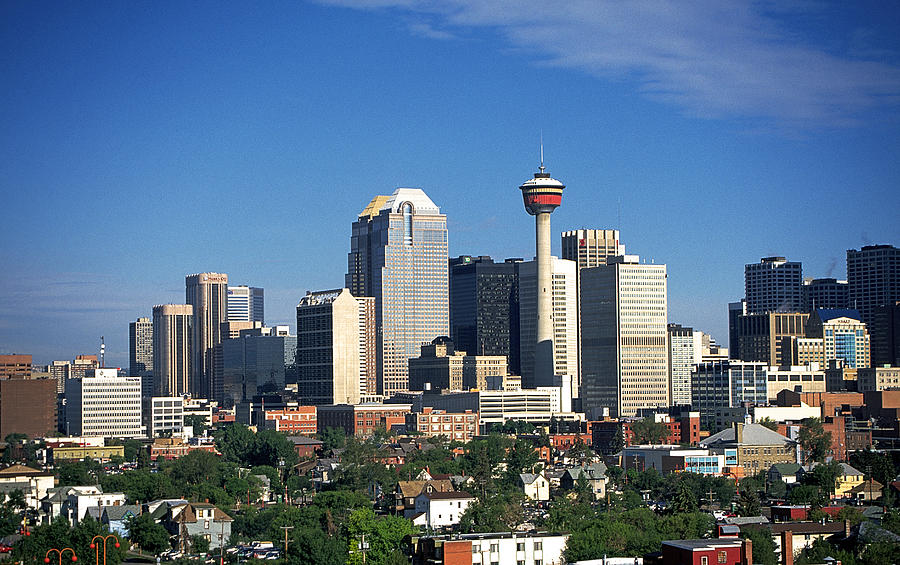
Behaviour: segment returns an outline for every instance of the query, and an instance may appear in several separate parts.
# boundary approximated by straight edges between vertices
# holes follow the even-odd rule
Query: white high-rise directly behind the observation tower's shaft
[[[553,378],[541,380],[535,373],[537,344],[537,264],[519,264],[519,351],[522,360],[522,385],[525,388],[561,386],[559,377],[571,380],[572,394],[578,396],[578,265],[551,257],[551,320],[553,328]]]

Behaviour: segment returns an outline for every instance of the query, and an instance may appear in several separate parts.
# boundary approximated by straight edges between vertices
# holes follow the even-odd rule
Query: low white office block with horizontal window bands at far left
[[[93,369],[83,378],[66,380],[68,435],[139,437],[145,433],[141,424],[141,377]]]

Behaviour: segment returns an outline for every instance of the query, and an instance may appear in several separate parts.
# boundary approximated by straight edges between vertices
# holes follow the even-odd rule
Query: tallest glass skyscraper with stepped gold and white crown
[[[447,217],[421,189],[375,197],[353,223],[346,280],[375,298],[379,394],[406,390],[408,360],[448,334],[447,265]]]

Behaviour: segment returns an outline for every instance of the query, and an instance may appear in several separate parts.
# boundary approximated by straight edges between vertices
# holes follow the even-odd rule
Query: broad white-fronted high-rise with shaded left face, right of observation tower
[[[623,255],[581,270],[582,406],[590,417],[669,406],[666,266]]]

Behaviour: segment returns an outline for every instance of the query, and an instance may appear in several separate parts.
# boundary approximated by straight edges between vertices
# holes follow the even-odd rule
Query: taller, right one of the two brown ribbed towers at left
[[[222,322],[227,319],[228,275],[199,273],[184,279],[185,302],[194,307],[191,338],[190,392],[197,397],[214,394],[214,348],[222,343]]]

